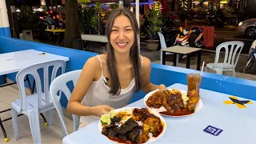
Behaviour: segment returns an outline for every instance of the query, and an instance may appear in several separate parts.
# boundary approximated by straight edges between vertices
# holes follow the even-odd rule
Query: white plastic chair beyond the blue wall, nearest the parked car
[[[231,46],[230,51],[229,46]],[[238,63],[238,58],[243,46],[244,42],[240,41],[223,42],[219,44],[216,48],[214,63],[208,63],[206,65],[206,71],[207,68],[215,70],[217,74],[222,74],[223,71],[233,71],[233,76],[235,76],[235,66]],[[220,50],[222,50],[223,47],[225,48],[224,62],[218,63]]]

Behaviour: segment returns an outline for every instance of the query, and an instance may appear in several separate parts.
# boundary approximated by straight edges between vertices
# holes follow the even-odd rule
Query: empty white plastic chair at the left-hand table
[[[50,98],[49,93],[49,67],[54,66],[51,74],[51,82],[56,78],[58,69],[61,67],[61,73],[63,74],[65,71],[65,61],[57,60],[52,62],[43,62],[38,63],[33,66],[28,66],[22,70],[20,70],[16,76],[16,81],[18,84],[18,89],[20,92],[21,98],[17,99],[15,102],[11,104],[11,115],[12,122],[14,127],[14,136],[16,140],[19,139],[18,134],[18,113],[26,114],[29,118],[30,122],[30,130],[34,140],[34,143],[42,143],[41,142],[41,133],[39,126],[39,117],[38,114],[46,112],[47,121],[49,126],[53,124],[53,110],[54,104]],[[43,80],[38,74],[38,70],[43,70]],[[26,95],[25,92],[25,82],[24,78],[27,74],[31,74],[34,77],[36,83],[36,93],[32,95]],[[44,86],[44,93],[42,93],[42,83]]]

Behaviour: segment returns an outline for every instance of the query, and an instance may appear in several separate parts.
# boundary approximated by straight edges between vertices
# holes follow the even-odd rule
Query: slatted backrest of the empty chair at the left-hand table
[[[25,82],[24,82],[24,78],[26,77],[27,74],[31,74],[34,77],[35,80],[35,84],[36,84],[36,92],[37,92],[37,99],[38,99],[38,103],[35,103],[33,105],[38,106],[39,110],[42,110],[43,108],[46,108],[47,106],[52,105],[52,103],[50,102],[50,93],[49,93],[49,67],[50,66],[54,66],[53,70],[52,70],[52,74],[51,74],[51,81],[52,82],[54,80],[54,78],[56,78],[58,69],[61,67],[61,73],[63,74],[65,71],[65,65],[66,62],[62,61],[62,60],[56,60],[56,61],[51,61],[51,62],[42,62],[42,63],[38,63],[32,66],[28,66],[22,70],[20,70],[16,76],[16,81],[18,84],[18,89],[20,91],[20,95],[22,98],[22,106],[21,106],[21,110],[26,110],[26,92],[25,92]],[[38,70],[42,69],[43,70],[43,84],[44,84],[44,94],[45,94],[45,105],[42,105],[42,83],[41,83],[41,78],[38,74]],[[21,110],[19,110],[18,112],[21,112]]]

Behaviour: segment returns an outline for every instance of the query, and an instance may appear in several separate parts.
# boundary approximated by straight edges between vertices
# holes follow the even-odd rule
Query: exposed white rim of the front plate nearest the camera
[[[142,109],[140,107],[124,107],[124,108],[121,108],[121,109],[115,109],[114,112],[118,113],[118,111],[124,111],[124,110],[134,110],[134,108],[138,108],[138,109]],[[146,143],[151,143],[151,142],[154,142],[154,141],[157,141],[158,138],[161,138],[163,134],[165,134],[166,132],[166,121],[164,118],[162,118],[162,116],[156,112],[154,112],[153,110],[149,110],[151,114],[154,114],[155,116],[157,116],[158,118],[160,118],[161,122],[162,122],[162,125],[163,125],[163,130],[162,130],[162,133],[158,135],[157,138],[150,138],[146,141]],[[102,134],[102,122],[101,120],[98,121],[98,130],[99,132]],[[104,134],[102,134],[104,137],[106,137]],[[107,138],[107,137],[106,137]],[[110,140],[109,138],[107,138],[108,140]],[[110,140],[112,141],[112,140]],[[115,142],[115,141],[112,141],[112,142]],[[118,142],[116,142],[118,143]]]

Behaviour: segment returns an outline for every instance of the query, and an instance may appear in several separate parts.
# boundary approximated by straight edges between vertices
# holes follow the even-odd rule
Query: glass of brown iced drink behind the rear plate
[[[197,90],[199,93],[202,76],[200,74],[187,74],[187,90]]]

